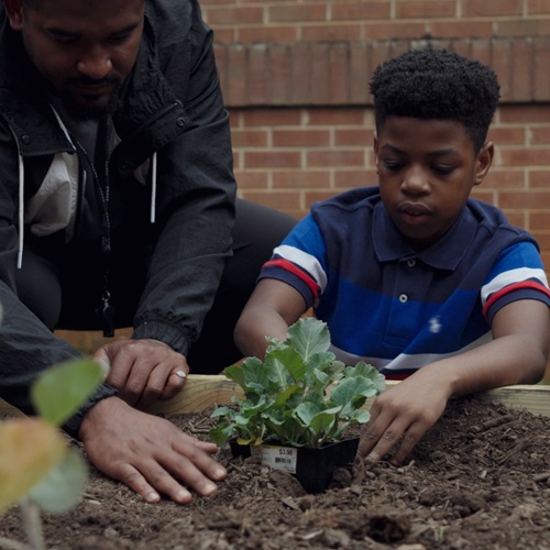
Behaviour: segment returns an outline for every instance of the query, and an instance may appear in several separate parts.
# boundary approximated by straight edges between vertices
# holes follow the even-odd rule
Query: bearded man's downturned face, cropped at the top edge
[[[105,111],[132,70],[144,0],[4,0],[10,24],[51,90],[82,116]]]

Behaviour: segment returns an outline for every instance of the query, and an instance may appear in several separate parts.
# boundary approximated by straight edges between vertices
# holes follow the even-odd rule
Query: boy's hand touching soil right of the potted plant
[[[399,465],[443,414],[449,396],[446,385],[429,366],[389,387],[371,407],[359,454],[374,463],[397,444],[392,463]]]

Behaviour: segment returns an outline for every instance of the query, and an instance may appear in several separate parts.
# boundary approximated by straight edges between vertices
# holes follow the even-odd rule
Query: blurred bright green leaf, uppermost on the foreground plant
[[[44,420],[62,426],[82,406],[101,380],[101,367],[96,362],[68,361],[44,371],[31,387],[31,400]]]

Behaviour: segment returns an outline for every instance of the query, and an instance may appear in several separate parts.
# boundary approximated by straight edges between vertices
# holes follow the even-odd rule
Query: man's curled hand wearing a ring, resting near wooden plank
[[[140,408],[176,395],[189,373],[184,355],[157,340],[117,340],[102,345],[94,360],[109,365],[106,384]]]

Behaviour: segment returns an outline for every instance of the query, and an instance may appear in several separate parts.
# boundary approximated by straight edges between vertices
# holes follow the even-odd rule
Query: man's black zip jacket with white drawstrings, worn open
[[[196,0],[147,0],[138,61],[119,96],[112,122],[120,143],[108,170],[117,190],[114,223],[134,223],[136,234],[145,234],[142,227],[150,221],[144,202],[151,197],[156,200],[156,221],[147,233],[154,235],[151,263],[133,338],[161,340],[186,354],[200,333],[231,254],[235,194],[229,117],[212,32],[201,20]],[[135,174],[155,153],[156,190],[152,191],[151,174],[141,183]],[[98,239],[90,220],[99,220],[100,212],[82,190],[84,162],[0,7],[0,302],[4,310],[0,396],[23,410],[30,410],[26,391],[36,374],[79,353],[54,337],[18,299],[19,193],[23,185],[23,262],[25,246],[44,250],[52,258],[63,257],[67,241],[73,248],[87,246]],[[46,174],[50,179],[52,173],[56,177],[54,163],[77,174],[70,233],[63,222],[52,230],[56,220],[43,223],[35,212],[41,210],[35,202]],[[133,213],[127,217],[129,204],[127,210]],[[143,217],[135,215],[142,211]],[[50,215],[46,209],[46,218]]]

